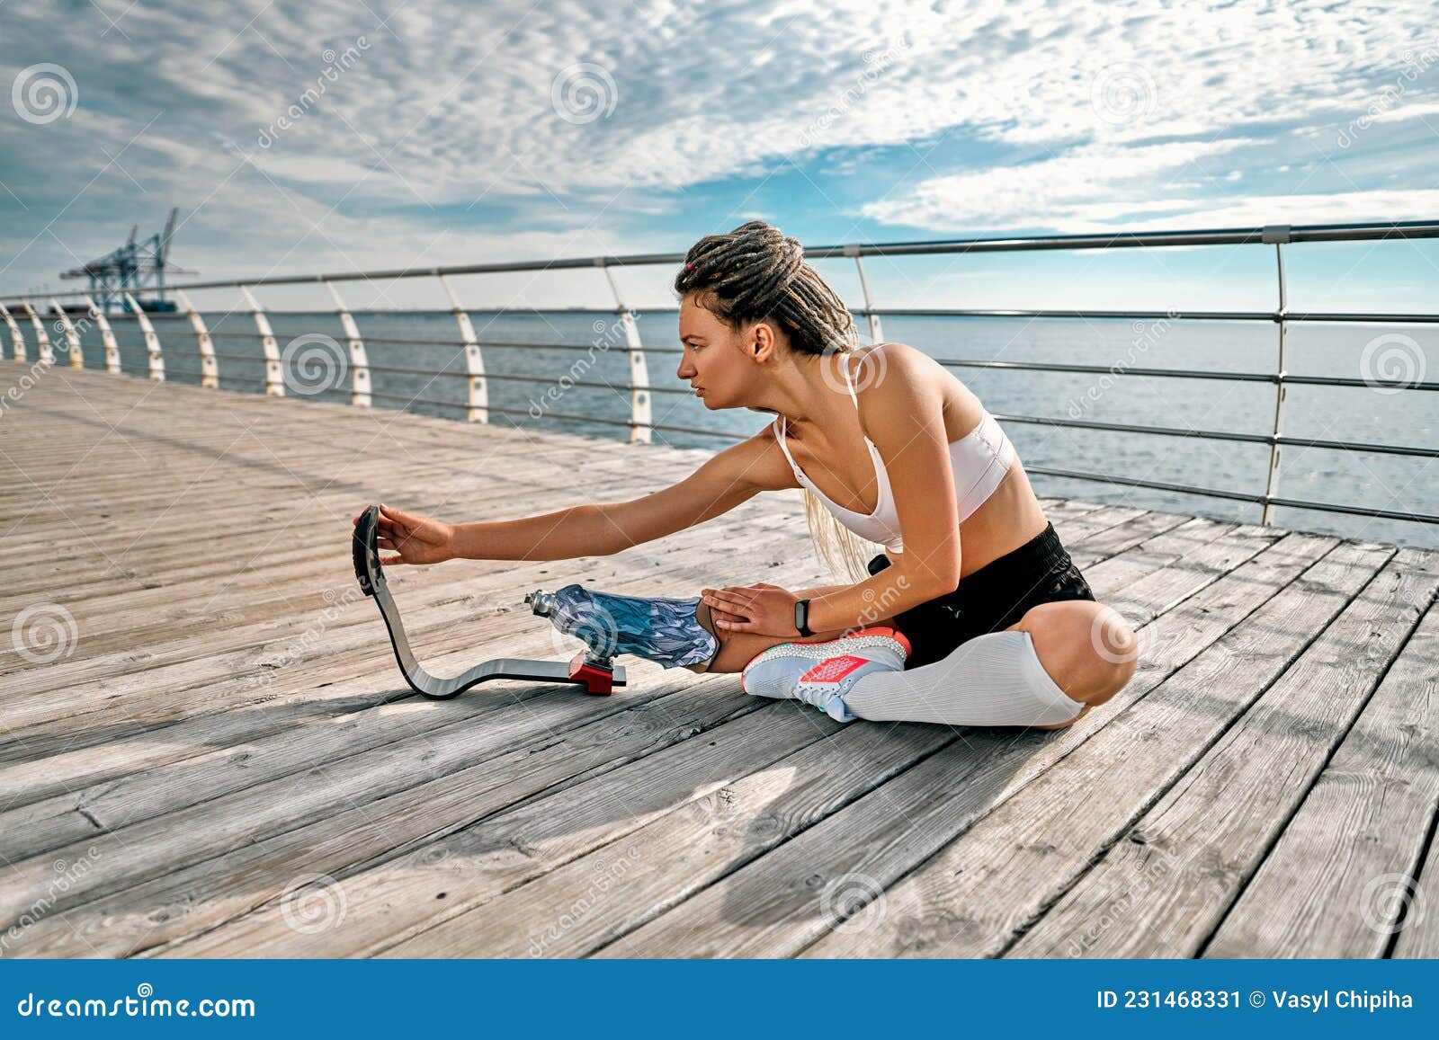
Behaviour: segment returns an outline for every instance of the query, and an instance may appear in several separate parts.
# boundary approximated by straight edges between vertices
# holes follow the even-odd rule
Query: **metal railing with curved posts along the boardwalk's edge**
[[[1202,495],[1207,498],[1229,499],[1238,502],[1250,502],[1262,506],[1262,524],[1268,525],[1272,522],[1274,509],[1276,506],[1295,508],[1295,509],[1315,509],[1322,512],[1335,514],[1350,514],[1358,516],[1374,516],[1383,519],[1397,519],[1397,521],[1415,521],[1422,524],[1439,524],[1439,515],[1422,514],[1422,512],[1407,512],[1399,509],[1379,509],[1368,508],[1356,503],[1337,503],[1337,502],[1315,502],[1307,499],[1292,499],[1284,498],[1278,493],[1279,485],[1279,463],[1282,449],[1286,446],[1294,447],[1320,447],[1338,452],[1370,452],[1370,453],[1386,453],[1386,455],[1402,455],[1410,457],[1433,459],[1439,457],[1439,449],[1436,447],[1422,447],[1422,446],[1396,446],[1396,444],[1376,444],[1376,443],[1361,443],[1350,440],[1318,440],[1307,437],[1292,437],[1285,434],[1285,398],[1288,396],[1288,387],[1291,386],[1325,386],[1325,387],[1374,387],[1374,386],[1394,386],[1394,388],[1413,390],[1413,391],[1435,391],[1439,390],[1439,383],[1413,380],[1403,384],[1384,384],[1376,380],[1358,380],[1358,378],[1343,378],[1343,377],[1328,377],[1328,375],[1295,375],[1288,371],[1288,332],[1294,322],[1327,322],[1327,324],[1345,324],[1345,322],[1397,322],[1397,324],[1436,324],[1439,322],[1439,314],[1361,314],[1361,312],[1294,312],[1289,309],[1288,304],[1288,283],[1285,279],[1285,246],[1294,243],[1305,242],[1373,242],[1384,239],[1433,239],[1439,237],[1439,223],[1436,222],[1406,222],[1406,223],[1367,223],[1367,224],[1312,224],[1312,226],[1288,226],[1288,224],[1271,224],[1265,227],[1248,227],[1248,229],[1222,229],[1222,230],[1180,230],[1180,232],[1141,232],[1141,233],[1117,233],[1117,234],[1056,234],[1056,236],[1035,236],[1035,237],[1009,237],[1009,239],[951,239],[938,242],[898,242],[898,243],[869,243],[869,245],[836,245],[836,246],[814,246],[804,250],[806,257],[812,260],[817,259],[852,259],[855,262],[856,272],[859,275],[861,293],[863,296],[862,308],[852,308],[852,312],[868,321],[871,338],[876,342],[884,339],[882,334],[882,319],[886,316],[896,318],[1032,318],[1032,319],[1052,319],[1052,318],[1071,318],[1071,319],[1131,319],[1131,321],[1266,321],[1274,322],[1276,328],[1276,364],[1274,371],[1266,373],[1245,373],[1245,371],[1203,371],[1203,370],[1183,370],[1183,368],[1137,368],[1125,367],[1115,370],[1114,365],[1084,365],[1084,364],[1063,364],[1063,362],[1040,362],[1040,361],[980,361],[980,360],[957,360],[957,361],[941,361],[941,364],[954,368],[994,368],[994,370],[1025,370],[1025,371],[1049,371],[1049,373],[1089,373],[1089,374],[1108,374],[1108,375],[1125,375],[1125,377],[1161,377],[1161,378],[1181,378],[1181,380],[1222,380],[1222,381],[1238,381],[1238,383],[1269,383],[1275,388],[1274,396],[1274,421],[1271,433],[1256,434],[1256,433],[1238,433],[1227,430],[1203,430],[1203,429],[1181,429],[1181,427],[1167,427],[1167,426],[1147,426],[1147,424],[1125,424],[1125,423],[1105,423],[1088,419],[1058,419],[1046,416],[1019,416],[1019,414],[1002,414],[996,413],[996,419],[1006,423],[1030,423],[1053,427],[1072,427],[1085,430],[1104,430],[1104,432],[1118,432],[1118,433],[1144,433],[1151,436],[1164,437],[1199,437],[1209,440],[1226,440],[1236,443],[1255,443],[1268,444],[1269,447],[1269,463],[1268,476],[1265,482],[1265,489],[1262,493],[1242,492],[1223,488],[1203,488],[1189,483],[1174,483],[1161,480],[1145,480],[1137,478],[1125,478],[1112,473],[1089,473],[1072,469],[1061,469],[1053,466],[1030,466],[1026,465],[1026,470],[1030,473],[1039,473],[1045,476],[1068,478],[1075,480],[1088,480],[1097,483],[1109,483],[1131,488],[1147,488],[1153,491],[1164,492],[1179,492],[1187,495]],[[945,253],[993,253],[993,252],[1026,252],[1026,250],[1073,250],[1073,249],[1163,249],[1174,246],[1243,246],[1243,245],[1258,245],[1258,246],[1272,246],[1275,257],[1275,273],[1276,273],[1276,301],[1275,308],[1271,311],[1112,311],[1112,309],[976,309],[976,308],[881,308],[876,306],[873,298],[873,289],[871,286],[869,278],[865,272],[863,257],[866,256],[882,256],[882,257],[896,257],[896,256],[928,256],[928,255],[945,255]],[[557,342],[515,342],[515,341],[486,341],[481,342],[475,335],[473,325],[471,322],[469,312],[460,305],[459,298],[455,295],[455,289],[449,279],[460,275],[489,275],[489,273],[515,273],[515,272],[553,272],[553,270],[580,270],[580,269],[600,269],[609,283],[609,289],[614,296],[613,308],[553,308],[553,309],[534,309],[522,308],[517,312],[531,314],[531,315],[545,315],[545,314],[563,314],[563,315],[616,315],[620,322],[620,331],[623,334],[625,351],[629,361],[629,381],[625,387],[630,397],[630,417],[627,420],[619,419],[604,419],[600,416],[583,416],[583,414],[567,414],[545,410],[544,414],[553,419],[564,419],[577,423],[596,423],[600,426],[622,426],[629,429],[629,439],[632,442],[649,443],[653,430],[665,430],[675,433],[689,433],[698,436],[712,436],[730,440],[741,440],[743,434],[724,433],[718,430],[702,430],[688,426],[675,426],[653,421],[653,414],[650,410],[652,394],[686,394],[688,390],[678,387],[655,387],[650,386],[648,377],[646,355],[649,354],[681,354],[678,348],[656,348],[645,347],[640,342],[639,328],[636,324],[636,312],[630,309],[626,304],[623,295],[620,293],[619,285],[614,280],[613,270],[616,268],[640,268],[640,266],[655,266],[655,265],[678,265],[685,260],[684,253],[652,253],[652,255],[636,255],[636,256],[593,256],[593,257],[574,257],[574,259],[554,259],[554,260],[524,260],[514,263],[473,263],[462,266],[448,266],[448,268],[425,268],[425,269],[394,269],[394,270],[370,270],[370,272],[337,272],[331,275],[272,275],[263,278],[243,279],[243,280],[217,280],[217,282],[191,282],[181,286],[171,286],[176,293],[176,299],[180,305],[178,314],[150,314],[145,312],[135,298],[130,293],[124,293],[122,301],[125,305],[124,315],[105,315],[95,308],[94,299],[83,291],[55,293],[46,298],[49,306],[49,314],[53,314],[58,319],[58,331],[65,337],[66,350],[69,352],[69,364],[72,367],[83,367],[83,357],[81,351],[79,334],[75,331],[71,315],[65,312],[60,306],[58,296],[78,298],[89,311],[89,318],[96,324],[101,339],[105,347],[105,367],[111,373],[119,373],[119,351],[115,344],[114,328],[111,325],[112,318],[134,321],[144,337],[145,348],[148,354],[148,373],[153,380],[164,378],[164,357],[155,332],[154,322],[160,321],[187,321],[191,327],[191,332],[196,338],[199,354],[201,360],[201,384],[206,387],[219,387],[219,361],[222,360],[245,360],[255,361],[256,358],[249,358],[237,354],[227,354],[214,350],[216,339],[258,339],[260,344],[262,360],[265,362],[265,378],[263,388],[266,394],[283,396],[285,394],[285,378],[283,365],[279,355],[276,338],[273,329],[271,328],[269,318],[259,301],[253,295],[253,289],[258,286],[281,286],[281,285],[322,285],[330,292],[334,302],[335,314],[341,322],[344,337],[347,339],[347,347],[350,352],[350,398],[351,403],[360,407],[368,407],[373,400],[400,400],[407,404],[432,404],[442,407],[458,407],[463,409],[466,419],[475,423],[489,421],[489,413],[499,414],[530,414],[524,409],[508,409],[498,407],[489,403],[488,381],[489,380],[512,380],[519,383],[553,383],[550,377],[537,375],[496,375],[486,373],[484,351],[486,350],[593,350],[593,347],[583,347],[576,344],[557,344]],[[371,342],[384,344],[413,344],[413,345],[448,345],[456,347],[463,351],[465,357],[465,371],[440,371],[433,373],[423,368],[406,368],[396,365],[373,365],[368,362],[366,354],[364,337],[361,337],[360,328],[355,322],[354,312],[351,312],[340,296],[337,283],[341,282],[377,282],[377,280],[403,280],[403,279],[436,279],[443,288],[446,298],[452,305],[452,314],[455,316],[459,338],[455,341],[439,341],[439,339],[400,339],[400,338],[371,338]],[[255,322],[253,334],[224,334],[224,332],[210,332],[206,328],[204,318],[190,302],[189,292],[197,289],[236,289]],[[676,308],[645,308],[645,314],[672,314]],[[19,361],[26,360],[26,342],[20,331],[20,322],[17,321],[17,312],[20,318],[29,321],[35,332],[35,341],[40,354],[40,358],[46,364],[53,364],[53,345],[45,328],[45,321],[42,314],[35,308],[35,305],[26,298],[9,298],[0,299],[0,318],[4,319],[9,327],[13,355]],[[489,312],[489,311],[486,311]],[[502,311],[504,312],[504,311]],[[384,373],[409,373],[417,375],[445,375],[466,380],[466,400],[463,404],[456,401],[442,401],[436,398],[423,397],[407,397],[400,394],[384,394],[377,393],[370,387],[370,373],[384,371]],[[602,381],[578,381],[571,380],[571,386],[586,386],[586,387],[602,387],[602,388],[616,388],[610,383]]]

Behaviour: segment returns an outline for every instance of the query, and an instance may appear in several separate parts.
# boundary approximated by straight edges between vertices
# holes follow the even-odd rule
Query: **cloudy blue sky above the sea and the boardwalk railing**
[[[0,43],[4,295],[75,288],[58,273],[170,207],[191,280],[678,253],[750,219],[810,245],[1439,220],[1432,0],[7,0]],[[1433,240],[1289,259],[1292,305],[1439,299]],[[871,273],[891,306],[1275,299],[1261,247]],[[672,305],[671,278],[623,288]],[[442,304],[432,279],[345,292]],[[463,292],[610,302],[591,272]]]

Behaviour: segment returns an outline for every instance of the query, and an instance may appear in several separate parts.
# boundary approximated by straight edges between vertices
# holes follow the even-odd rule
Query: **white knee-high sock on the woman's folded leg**
[[[873,672],[850,688],[845,703],[872,722],[955,726],[1042,726],[1068,722],[1084,708],[1049,678],[1027,631],[991,631],[932,665]]]

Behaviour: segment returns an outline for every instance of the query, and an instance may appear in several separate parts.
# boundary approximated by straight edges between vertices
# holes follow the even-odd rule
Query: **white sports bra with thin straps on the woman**
[[[855,401],[855,411],[858,413],[859,397],[855,394],[855,381],[849,375],[848,357],[845,358],[845,383],[849,386],[849,397]],[[881,542],[889,552],[904,552],[904,538],[899,537],[899,512],[895,508],[894,491],[889,488],[889,473],[885,470],[885,462],[879,457],[879,449],[875,447],[875,442],[865,437],[865,444],[869,446],[869,455],[875,462],[879,502],[872,514],[865,515],[832,502],[825,496],[825,492],[804,476],[804,470],[794,465],[794,456],[790,455],[790,449],[784,444],[784,430],[787,426],[784,416],[780,416],[776,420],[776,437],[780,442],[780,450],[784,452],[784,457],[790,460],[790,469],[794,470],[794,479],[800,482],[800,486],[813,492],[814,498],[842,525],[861,538]],[[1013,462],[1014,446],[1000,429],[999,420],[987,409],[973,430],[958,440],[950,442],[950,467],[954,470],[954,498],[958,503],[960,524],[968,519],[970,514],[984,505],[984,501],[994,493],[994,489],[999,488],[1000,480],[1004,479]]]

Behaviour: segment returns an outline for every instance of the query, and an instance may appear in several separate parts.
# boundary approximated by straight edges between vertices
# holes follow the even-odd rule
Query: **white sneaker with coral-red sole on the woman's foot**
[[[740,689],[814,705],[836,722],[852,722],[845,693],[871,672],[901,672],[909,640],[876,626],[823,643],[780,643],[758,653],[740,673]]]

